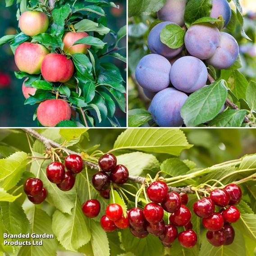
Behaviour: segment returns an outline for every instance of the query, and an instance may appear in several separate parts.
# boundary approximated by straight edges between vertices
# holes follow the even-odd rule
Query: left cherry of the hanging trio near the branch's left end
[[[65,177],[64,165],[60,162],[50,163],[46,168],[46,176],[52,183],[61,183]]]

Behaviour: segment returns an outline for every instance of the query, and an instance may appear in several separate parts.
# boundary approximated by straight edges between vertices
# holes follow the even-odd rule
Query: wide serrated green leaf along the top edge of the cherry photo
[[[133,149],[179,155],[192,147],[180,129],[127,129],[114,143],[114,150]]]

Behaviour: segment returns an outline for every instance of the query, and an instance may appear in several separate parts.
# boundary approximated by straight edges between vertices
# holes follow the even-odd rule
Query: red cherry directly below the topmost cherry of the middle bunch
[[[143,210],[144,218],[149,223],[155,224],[160,222],[164,217],[163,208],[155,203],[148,203]]]

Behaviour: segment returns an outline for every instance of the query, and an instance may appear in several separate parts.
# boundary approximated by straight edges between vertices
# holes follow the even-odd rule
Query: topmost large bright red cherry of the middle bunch
[[[148,198],[154,203],[161,203],[168,194],[168,186],[162,181],[154,181],[146,190]]]

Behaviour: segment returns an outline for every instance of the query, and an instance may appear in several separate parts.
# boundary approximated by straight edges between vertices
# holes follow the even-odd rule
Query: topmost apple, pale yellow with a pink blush
[[[49,19],[43,12],[26,11],[20,15],[18,26],[24,34],[32,37],[46,32]]]

